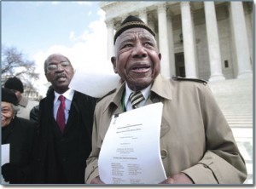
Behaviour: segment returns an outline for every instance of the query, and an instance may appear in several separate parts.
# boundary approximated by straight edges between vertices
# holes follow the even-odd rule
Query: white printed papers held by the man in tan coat
[[[162,103],[115,115],[99,156],[106,184],[158,184],[166,180],[160,158]]]

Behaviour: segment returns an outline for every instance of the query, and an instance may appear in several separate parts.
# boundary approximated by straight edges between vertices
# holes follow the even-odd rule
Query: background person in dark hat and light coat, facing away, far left
[[[24,86],[18,77],[9,77],[9,79],[4,83],[4,88],[12,90],[18,98],[18,106],[20,107],[19,112],[17,112],[18,117],[25,119],[30,119],[30,112],[34,106],[39,103],[36,100],[28,100],[23,96]]]

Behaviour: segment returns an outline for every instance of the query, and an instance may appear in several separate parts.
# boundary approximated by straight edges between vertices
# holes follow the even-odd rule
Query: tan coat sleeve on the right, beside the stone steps
[[[206,152],[201,161],[182,172],[195,184],[241,184],[247,169],[229,124],[208,87],[199,90],[206,135]]]

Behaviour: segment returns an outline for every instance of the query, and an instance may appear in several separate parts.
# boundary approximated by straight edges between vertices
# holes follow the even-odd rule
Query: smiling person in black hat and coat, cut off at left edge
[[[16,117],[18,99],[11,90],[2,88],[1,105],[2,145],[9,144],[9,163],[2,166],[3,179],[10,184],[32,183],[37,127],[27,119]]]

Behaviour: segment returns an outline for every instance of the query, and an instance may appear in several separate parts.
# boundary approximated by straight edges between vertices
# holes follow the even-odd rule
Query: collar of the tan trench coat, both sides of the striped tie
[[[154,79],[152,88],[150,89],[155,94],[158,94],[160,97],[167,100],[172,100],[172,84],[169,79],[162,77],[160,74]],[[121,106],[121,99],[125,91],[125,82],[120,83],[117,89],[112,94],[111,99],[107,103],[107,106],[104,108],[104,112],[108,109],[111,104],[114,104],[117,107]]]

